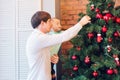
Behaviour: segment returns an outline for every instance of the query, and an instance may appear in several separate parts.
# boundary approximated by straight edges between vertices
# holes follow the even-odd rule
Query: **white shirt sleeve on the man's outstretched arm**
[[[77,23],[75,26],[63,31],[60,34],[52,34],[52,35],[43,34],[42,36],[38,37],[37,46],[39,48],[45,48],[68,41],[73,37],[75,37],[81,28],[82,26],[79,23]]]

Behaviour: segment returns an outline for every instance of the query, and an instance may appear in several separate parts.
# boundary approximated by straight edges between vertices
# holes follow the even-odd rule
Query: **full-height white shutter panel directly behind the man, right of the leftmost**
[[[32,29],[30,20],[32,15],[40,10],[40,0],[18,0],[17,1],[17,15],[16,19],[16,40],[17,40],[17,68],[18,80],[26,80],[28,74],[28,62],[25,53],[26,40],[30,35]]]

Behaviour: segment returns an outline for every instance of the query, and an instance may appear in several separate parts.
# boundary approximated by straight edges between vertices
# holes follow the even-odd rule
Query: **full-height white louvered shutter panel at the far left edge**
[[[15,80],[14,5],[14,0],[0,0],[0,80]]]

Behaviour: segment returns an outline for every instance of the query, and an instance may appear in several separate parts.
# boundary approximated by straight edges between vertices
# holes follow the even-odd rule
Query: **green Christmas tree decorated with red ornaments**
[[[89,0],[86,14],[91,23],[71,40],[73,47],[61,58],[62,80],[120,80],[120,8],[114,4]]]

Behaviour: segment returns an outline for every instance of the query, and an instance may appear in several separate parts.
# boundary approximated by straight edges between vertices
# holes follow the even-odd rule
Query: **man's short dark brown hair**
[[[36,28],[41,24],[41,21],[47,22],[48,19],[51,19],[51,16],[48,12],[37,11],[31,18],[31,24],[33,28]]]

